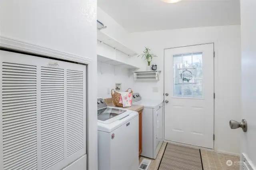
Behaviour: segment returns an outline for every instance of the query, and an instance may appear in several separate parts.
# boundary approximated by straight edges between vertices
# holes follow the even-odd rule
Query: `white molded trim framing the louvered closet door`
[[[0,47],[11,49],[14,51],[20,51],[25,53],[32,53],[34,55],[42,55],[47,57],[53,57],[56,59],[62,59],[66,61],[74,61],[78,63],[82,63],[86,65],[86,81],[93,82],[94,77],[94,68],[96,64],[92,61],[92,59],[86,56],[80,56],[73,53],[66,53],[63,51],[57,51],[56,49],[49,49],[46,47],[41,47],[37,44],[21,42],[20,40],[11,39],[8,37],[3,37],[0,35]],[[96,62],[97,63],[97,62]],[[97,111],[96,103],[94,100],[88,100],[89,98],[95,98],[97,95],[94,93],[94,85],[92,83],[88,83],[86,85],[86,113],[95,113]],[[87,169],[90,170],[91,167],[98,167],[98,150],[97,140],[98,136],[95,135],[97,133],[97,115],[86,114],[86,162]],[[88,130],[90,127],[90,130]],[[91,164],[89,162],[92,162]],[[91,168],[92,169],[92,168]]]

